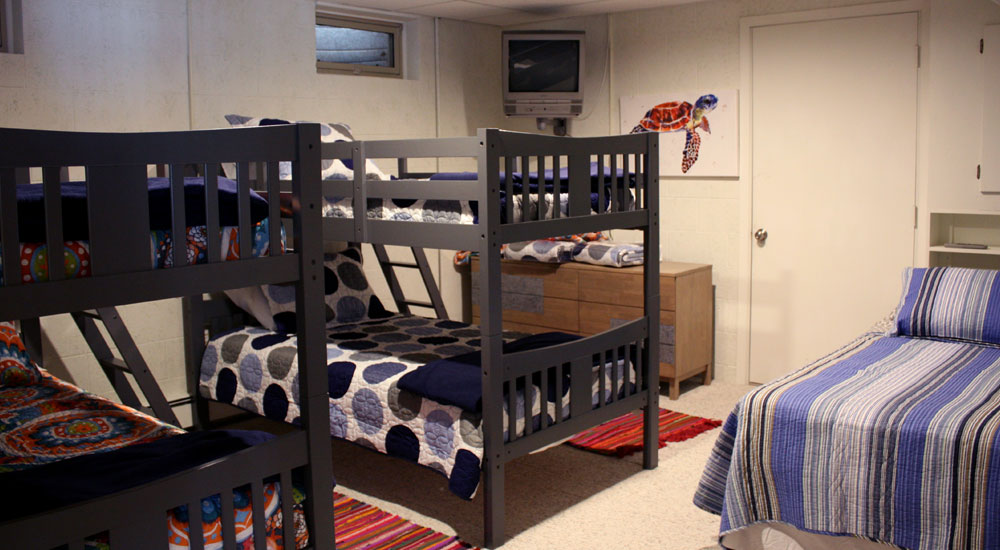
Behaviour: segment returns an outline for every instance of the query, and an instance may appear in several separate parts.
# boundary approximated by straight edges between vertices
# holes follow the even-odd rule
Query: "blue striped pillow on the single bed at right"
[[[907,268],[896,329],[905,336],[1000,344],[1000,272]]]

